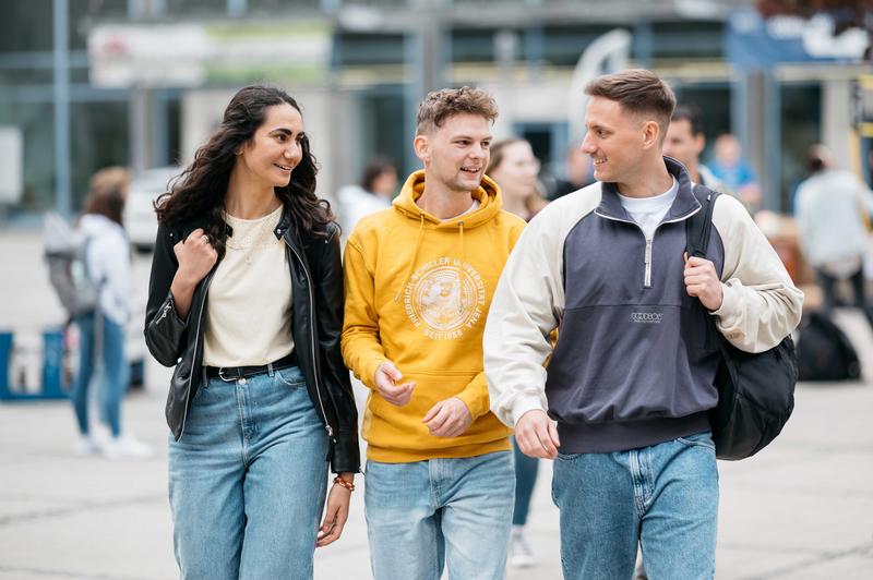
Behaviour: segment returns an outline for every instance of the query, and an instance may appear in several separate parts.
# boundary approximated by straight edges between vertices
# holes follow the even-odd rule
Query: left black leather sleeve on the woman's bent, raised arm
[[[177,235],[159,225],[148,280],[148,302],[145,305],[145,345],[164,366],[174,366],[181,357],[188,339],[188,323],[179,317],[170,292],[172,278],[179,268],[172,246]]]

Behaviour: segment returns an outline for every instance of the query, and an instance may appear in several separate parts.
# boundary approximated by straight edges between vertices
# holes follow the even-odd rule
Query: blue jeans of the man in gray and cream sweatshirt
[[[715,575],[718,471],[708,432],[630,451],[559,454],[552,498],[565,580],[630,580],[637,544],[653,580]]]

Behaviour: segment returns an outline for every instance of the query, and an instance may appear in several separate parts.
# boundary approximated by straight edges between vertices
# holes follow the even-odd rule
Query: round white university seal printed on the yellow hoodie
[[[459,338],[485,319],[485,281],[457,258],[436,257],[422,264],[404,288],[409,321],[432,340]]]

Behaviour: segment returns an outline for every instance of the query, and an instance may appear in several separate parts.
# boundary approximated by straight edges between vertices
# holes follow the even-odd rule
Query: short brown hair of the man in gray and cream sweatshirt
[[[670,86],[646,69],[627,69],[598,76],[585,87],[585,94],[619,102],[631,113],[650,113],[657,118],[661,136],[667,133],[675,109],[675,95]]]

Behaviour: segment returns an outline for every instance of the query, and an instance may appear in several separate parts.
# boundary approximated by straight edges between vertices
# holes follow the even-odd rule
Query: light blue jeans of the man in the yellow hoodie
[[[512,454],[367,461],[367,534],[375,580],[497,580],[506,567]]]

